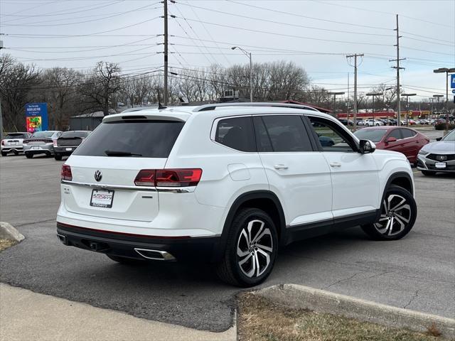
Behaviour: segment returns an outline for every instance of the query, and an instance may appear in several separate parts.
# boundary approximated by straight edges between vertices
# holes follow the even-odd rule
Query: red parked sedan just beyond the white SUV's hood
[[[360,140],[370,140],[376,148],[399,151],[405,154],[411,164],[417,164],[417,153],[429,143],[429,139],[419,131],[400,126],[372,126],[355,131]]]

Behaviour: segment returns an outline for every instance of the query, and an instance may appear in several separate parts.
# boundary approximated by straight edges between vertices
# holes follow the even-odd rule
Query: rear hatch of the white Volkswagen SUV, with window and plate
[[[105,120],[64,165],[71,172],[71,180],[63,184],[66,210],[120,220],[153,220],[159,212],[154,182],[138,186],[134,180],[141,170],[164,168],[184,123]]]

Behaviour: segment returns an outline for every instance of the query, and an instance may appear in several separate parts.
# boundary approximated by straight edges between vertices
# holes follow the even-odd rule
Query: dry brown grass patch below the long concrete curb
[[[441,341],[342,316],[277,305],[252,293],[238,300],[239,341]]]

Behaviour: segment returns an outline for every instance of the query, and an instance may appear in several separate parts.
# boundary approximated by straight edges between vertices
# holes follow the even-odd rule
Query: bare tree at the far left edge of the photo
[[[5,130],[23,130],[26,126],[24,105],[30,91],[38,87],[40,72],[34,65],[18,63],[11,55],[0,56],[0,94]]]

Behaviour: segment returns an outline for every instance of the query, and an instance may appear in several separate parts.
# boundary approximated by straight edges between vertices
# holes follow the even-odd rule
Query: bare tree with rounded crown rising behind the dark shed
[[[102,110],[106,115],[109,109],[116,107],[114,97],[122,90],[120,67],[116,63],[99,62],[91,75],[85,77],[80,85],[80,94],[85,102],[85,109]]]

